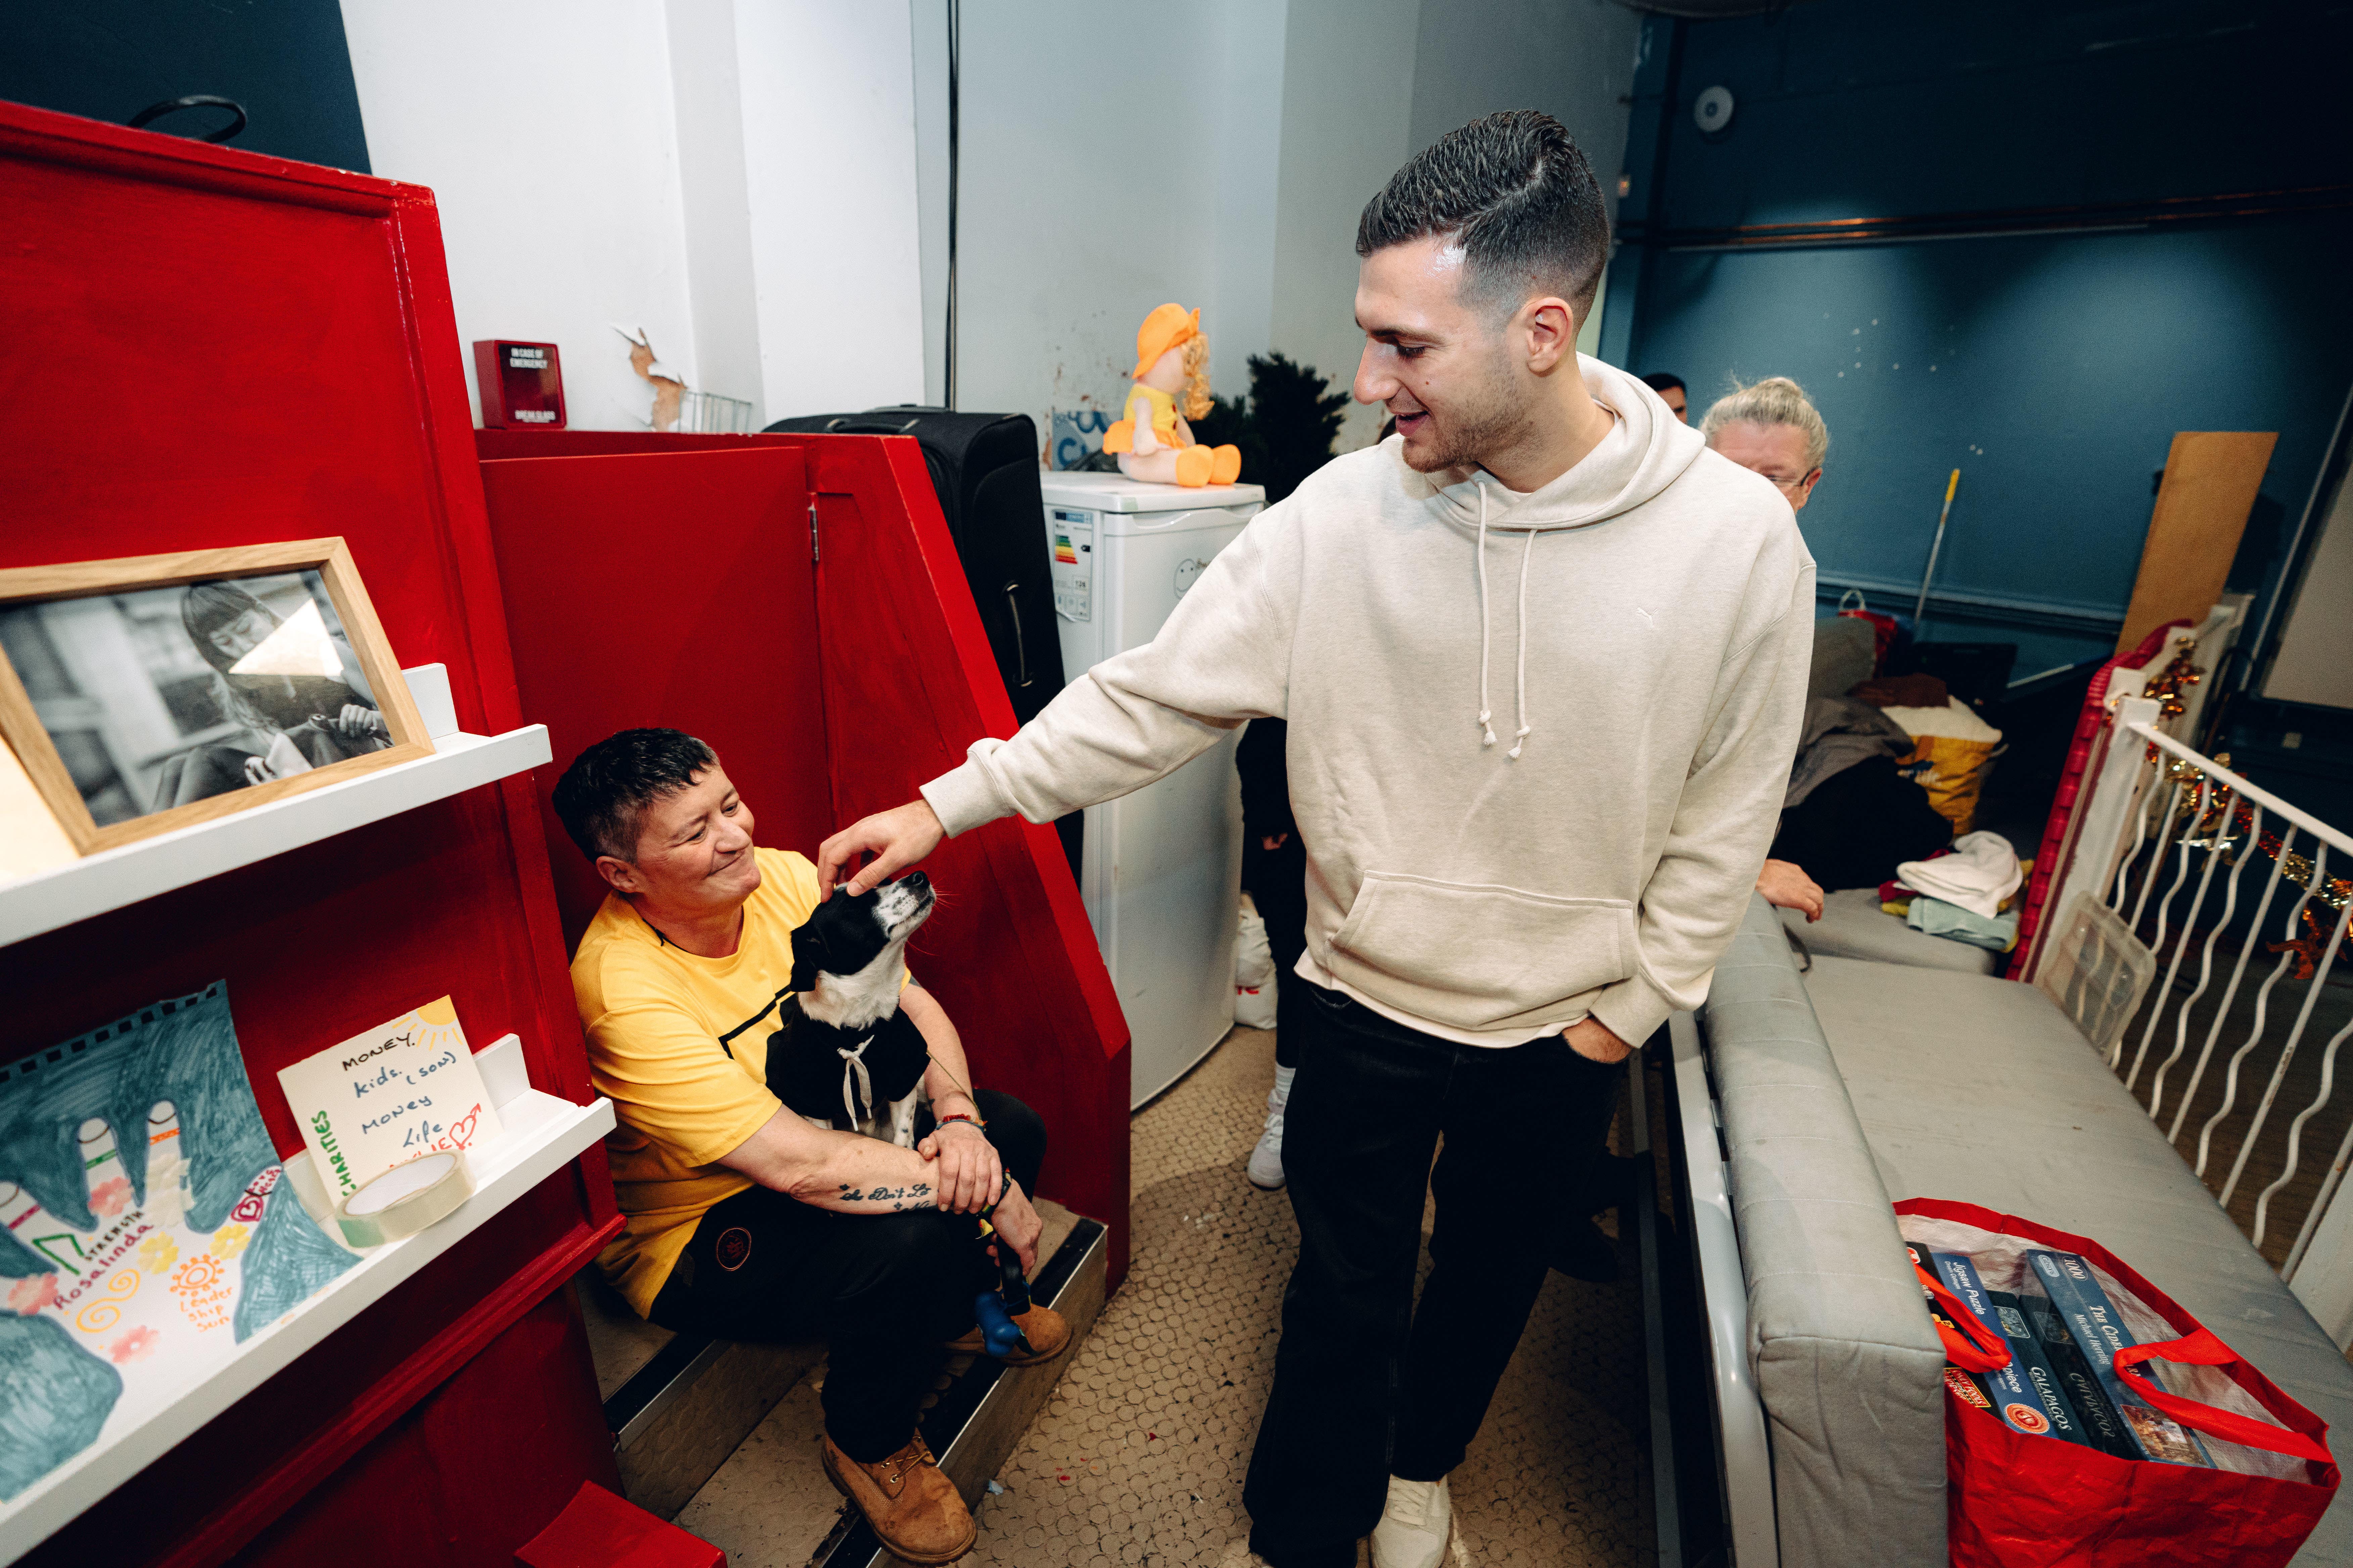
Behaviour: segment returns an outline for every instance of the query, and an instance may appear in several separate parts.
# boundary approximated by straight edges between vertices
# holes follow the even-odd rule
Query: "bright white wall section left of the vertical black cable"
[[[562,348],[574,428],[645,428],[612,322],[762,423],[922,397],[904,7],[346,0],[344,31],[376,172],[440,200],[461,341]]]

